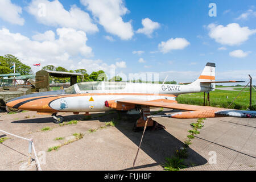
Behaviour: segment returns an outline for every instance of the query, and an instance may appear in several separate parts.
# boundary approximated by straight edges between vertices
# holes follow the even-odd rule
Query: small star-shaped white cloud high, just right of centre
[[[142,19],[142,25],[143,25],[143,28],[139,28],[137,30],[137,33],[145,34],[149,38],[152,37],[152,33],[154,32],[154,30],[160,27],[160,24],[158,22],[153,22],[149,18]]]

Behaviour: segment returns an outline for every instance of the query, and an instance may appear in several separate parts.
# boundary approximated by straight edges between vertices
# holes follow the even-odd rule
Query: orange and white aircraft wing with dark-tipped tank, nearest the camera
[[[111,102],[110,102],[111,103]],[[115,103],[115,104],[114,104]],[[114,104],[114,105],[113,105]],[[210,106],[196,106],[188,104],[177,104],[176,101],[171,100],[153,100],[153,101],[139,101],[139,100],[118,100],[112,102],[110,107],[114,109],[123,110],[131,108],[135,105],[164,107],[168,109],[184,110],[180,113],[171,114],[171,118],[189,119],[189,118],[214,118],[214,117],[240,117],[240,118],[256,118],[256,111],[234,110]]]

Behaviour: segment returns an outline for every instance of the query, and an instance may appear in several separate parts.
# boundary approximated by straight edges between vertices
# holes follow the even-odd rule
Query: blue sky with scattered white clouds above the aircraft
[[[161,80],[168,75],[187,82],[210,61],[217,80],[247,81],[249,73],[256,78],[255,1],[1,3],[0,55],[11,53],[31,67],[53,64],[89,73],[115,68],[118,75],[153,72]],[[217,16],[209,16],[210,3]]]

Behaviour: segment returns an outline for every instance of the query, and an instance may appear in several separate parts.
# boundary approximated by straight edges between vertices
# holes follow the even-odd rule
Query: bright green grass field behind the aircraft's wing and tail
[[[239,92],[215,90],[210,92],[210,105],[214,107],[228,108],[229,104],[237,96]],[[254,92],[255,93],[255,92]],[[207,94],[205,94],[205,99]],[[204,93],[182,94],[177,97],[180,104],[204,105]],[[252,105],[256,105],[256,93],[252,97]],[[242,92],[236,101],[229,107],[230,109],[247,110],[249,107],[249,92]]]

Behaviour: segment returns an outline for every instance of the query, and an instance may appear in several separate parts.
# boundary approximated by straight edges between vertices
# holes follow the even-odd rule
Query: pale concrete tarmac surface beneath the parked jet
[[[152,114],[159,109],[151,109]],[[164,109],[159,115],[177,110]],[[18,114],[1,113],[0,130],[25,138],[32,138],[43,170],[133,170],[133,161],[142,137],[134,132],[139,115],[118,113],[92,114],[89,121],[77,125],[60,126],[52,123],[50,115],[37,115],[28,111]],[[81,120],[84,115],[60,113],[64,123]],[[104,127],[114,118],[117,125]],[[118,120],[119,119],[119,120]],[[171,158],[189,135],[190,124],[196,119],[156,118],[166,130],[147,130],[139,152],[135,170],[163,170],[166,158]],[[42,131],[50,127],[49,131]],[[208,118],[200,134],[189,146],[188,165],[183,170],[256,170],[256,119]],[[90,129],[97,129],[90,133]],[[62,146],[57,151],[48,148],[74,139],[73,134],[83,133],[84,138]],[[0,132],[0,170],[24,170],[28,160],[28,142]],[[62,137],[63,140],[55,140]],[[44,158],[45,156],[45,158]],[[34,158],[34,154],[32,154]],[[45,160],[44,160],[45,159]],[[29,170],[35,170],[31,168]]]

